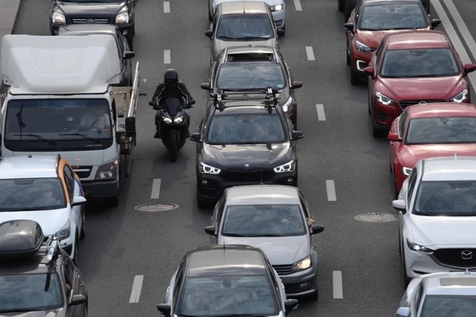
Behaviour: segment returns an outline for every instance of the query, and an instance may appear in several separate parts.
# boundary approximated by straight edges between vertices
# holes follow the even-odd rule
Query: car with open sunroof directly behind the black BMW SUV
[[[294,75],[283,55],[269,46],[242,46],[225,48],[208,76],[210,81],[200,87],[216,93],[217,90],[246,94],[271,87],[278,91],[279,105],[290,116],[297,129],[297,102],[294,90],[302,82],[294,81]]]

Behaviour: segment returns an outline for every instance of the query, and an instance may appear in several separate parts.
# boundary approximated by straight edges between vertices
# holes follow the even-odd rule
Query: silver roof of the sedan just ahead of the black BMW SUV
[[[299,190],[284,185],[249,185],[228,188],[227,205],[299,205]]]

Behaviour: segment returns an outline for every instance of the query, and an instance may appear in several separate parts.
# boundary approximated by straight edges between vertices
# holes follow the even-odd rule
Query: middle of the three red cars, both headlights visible
[[[468,73],[449,39],[439,31],[386,35],[368,67],[368,112],[373,136],[388,131],[407,106],[421,102],[470,103]]]

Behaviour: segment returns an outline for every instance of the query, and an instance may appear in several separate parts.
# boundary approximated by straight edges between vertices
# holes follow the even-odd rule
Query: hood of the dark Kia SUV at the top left
[[[67,17],[116,17],[118,12],[125,6],[124,1],[117,1],[114,3],[109,2],[87,2],[87,3],[74,3],[74,2],[62,2],[58,1],[58,8]]]

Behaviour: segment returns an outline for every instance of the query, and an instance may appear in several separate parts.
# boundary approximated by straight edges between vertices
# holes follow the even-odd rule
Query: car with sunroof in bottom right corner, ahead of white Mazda
[[[431,273],[415,278],[400,301],[397,317],[473,317],[476,273]]]

